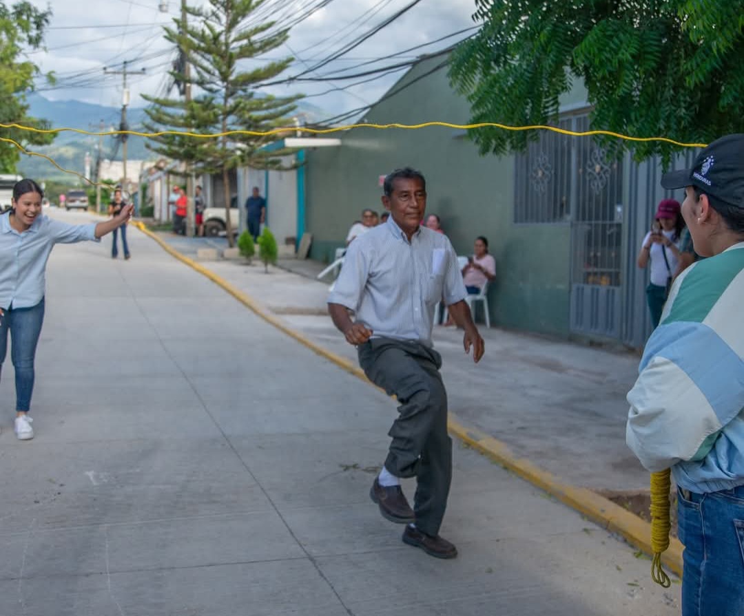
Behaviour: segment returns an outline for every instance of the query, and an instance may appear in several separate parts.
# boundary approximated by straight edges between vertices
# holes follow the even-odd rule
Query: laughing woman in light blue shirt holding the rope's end
[[[97,241],[132,216],[126,205],[111,220],[66,224],[42,215],[44,192],[33,180],[13,187],[10,211],[0,215],[0,368],[13,341],[10,360],[16,370],[16,436],[33,438],[28,416],[33,393],[33,360],[44,322],[45,271],[54,244]]]

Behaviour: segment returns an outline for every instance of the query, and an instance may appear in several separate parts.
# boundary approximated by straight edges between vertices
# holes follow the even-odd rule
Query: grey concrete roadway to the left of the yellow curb
[[[52,255],[33,441],[5,366],[1,615],[679,614],[679,584],[464,447],[460,557],[403,545],[368,499],[394,403],[129,236],[128,262]]]

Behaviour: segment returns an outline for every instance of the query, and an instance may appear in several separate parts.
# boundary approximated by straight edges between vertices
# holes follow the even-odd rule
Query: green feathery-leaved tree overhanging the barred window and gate
[[[472,122],[551,123],[583,81],[591,124],[638,137],[710,142],[744,130],[742,0],[475,0],[481,30],[452,56]],[[522,149],[535,132],[472,131],[481,153]],[[615,141],[635,158],[674,146]]]

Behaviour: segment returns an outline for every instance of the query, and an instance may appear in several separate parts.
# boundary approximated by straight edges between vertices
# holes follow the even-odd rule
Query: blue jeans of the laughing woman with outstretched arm
[[[44,299],[32,308],[6,310],[0,325],[0,368],[7,352],[10,330],[10,360],[16,369],[16,411],[28,412],[33,393],[33,359],[44,322]]]

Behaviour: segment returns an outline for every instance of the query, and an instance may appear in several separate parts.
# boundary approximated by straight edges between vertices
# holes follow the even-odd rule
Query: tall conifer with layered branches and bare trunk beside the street
[[[190,76],[176,67],[173,77],[181,85],[194,87],[193,100],[148,98],[153,106],[150,120],[161,129],[179,129],[201,134],[232,131],[266,132],[290,126],[289,114],[298,97],[257,94],[257,86],[286,70],[291,57],[266,61],[256,59],[289,38],[289,31],[275,22],[256,19],[254,13],[266,0],[208,0],[201,7],[187,7],[189,25],[166,28],[167,38],[182,51]],[[176,161],[193,164],[202,172],[222,173],[225,220],[230,228],[229,172],[239,166],[280,169],[286,151],[268,152],[264,146],[277,137],[223,134],[206,140],[170,135],[161,137],[153,149]]]

